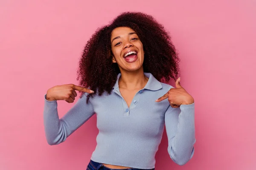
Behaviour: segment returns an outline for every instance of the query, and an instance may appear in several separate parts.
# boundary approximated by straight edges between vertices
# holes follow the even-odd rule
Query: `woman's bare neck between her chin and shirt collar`
[[[137,71],[121,71],[119,78],[119,88],[127,90],[142,89],[148,82],[148,77],[144,75],[143,68]]]

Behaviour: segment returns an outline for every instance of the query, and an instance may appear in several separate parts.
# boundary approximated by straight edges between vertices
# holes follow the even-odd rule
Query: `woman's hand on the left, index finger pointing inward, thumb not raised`
[[[86,93],[94,93],[94,91],[83,88],[77,85],[68,84],[68,85],[56,85],[47,90],[46,99],[49,101],[53,100],[65,100],[68,103],[73,103],[77,91],[83,91]]]

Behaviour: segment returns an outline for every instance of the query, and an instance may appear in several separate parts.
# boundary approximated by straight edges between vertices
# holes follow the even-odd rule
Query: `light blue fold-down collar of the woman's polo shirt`
[[[148,90],[151,90],[151,91],[157,91],[157,90],[162,88],[162,84],[156,78],[154,78],[154,76],[151,73],[145,73],[144,72],[144,74],[145,74],[146,77],[148,77],[148,82],[147,82],[147,84],[145,85],[145,87],[143,89],[148,89]],[[120,77],[121,77],[121,73],[119,73],[117,75],[116,83],[113,86],[113,89],[116,89],[116,90],[119,89],[118,82],[119,82]]]

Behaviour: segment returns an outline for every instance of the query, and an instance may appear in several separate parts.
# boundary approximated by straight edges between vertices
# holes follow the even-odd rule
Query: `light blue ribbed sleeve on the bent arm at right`
[[[186,164],[194,155],[195,103],[180,105],[180,108],[169,105],[165,113],[165,125],[171,159],[176,164]]]

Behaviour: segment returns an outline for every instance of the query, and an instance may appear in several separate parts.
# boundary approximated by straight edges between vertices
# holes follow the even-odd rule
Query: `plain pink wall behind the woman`
[[[195,98],[194,157],[176,165],[164,131],[156,170],[256,169],[255,0],[1,0],[0,170],[86,169],[96,146],[96,115],[50,146],[44,94],[78,84],[85,43],[123,11],[151,14],[171,33],[181,85]],[[59,116],[73,104],[58,102]]]

